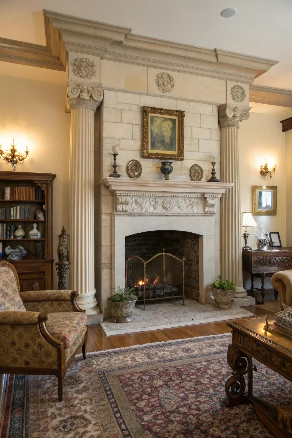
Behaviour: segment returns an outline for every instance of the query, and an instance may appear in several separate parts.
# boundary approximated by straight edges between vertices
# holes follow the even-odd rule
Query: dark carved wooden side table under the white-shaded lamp
[[[251,275],[250,291],[257,288],[254,287],[254,277],[260,277],[261,280],[261,304],[264,304],[264,280],[266,277],[271,277],[275,272],[286,271],[292,269],[292,248],[290,247],[269,247],[266,251],[260,249],[244,249],[243,250],[243,271],[249,272]],[[274,291],[275,300],[278,299],[278,292]]]

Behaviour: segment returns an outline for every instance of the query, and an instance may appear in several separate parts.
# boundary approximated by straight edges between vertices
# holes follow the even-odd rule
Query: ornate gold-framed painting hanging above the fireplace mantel
[[[143,158],[183,160],[184,113],[143,106]]]

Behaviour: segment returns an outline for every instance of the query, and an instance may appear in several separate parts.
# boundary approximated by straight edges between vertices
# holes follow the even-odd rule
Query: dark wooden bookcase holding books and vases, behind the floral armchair
[[[7,260],[5,254],[7,246],[16,249],[21,245],[27,251],[26,256],[21,260],[11,261],[18,272],[21,292],[53,289],[52,207],[55,177],[53,173],[0,172],[0,213],[5,217],[5,219],[0,219],[0,230],[3,230],[5,236],[0,239],[3,252],[1,255],[2,260]],[[5,187],[10,187],[11,199],[4,199]],[[37,199],[15,199],[24,197]],[[46,206],[45,219],[32,219],[35,218],[36,210],[42,211],[44,205]],[[10,219],[10,215],[13,215],[14,219]],[[23,219],[16,219],[16,217]],[[37,228],[44,237],[40,239],[28,237],[33,223],[38,225]],[[24,237],[21,239],[16,239],[15,236],[13,239],[6,238],[10,235],[8,231],[11,232],[11,227],[14,227],[15,232],[18,225],[21,225],[25,232]],[[38,255],[41,258],[38,258]]]

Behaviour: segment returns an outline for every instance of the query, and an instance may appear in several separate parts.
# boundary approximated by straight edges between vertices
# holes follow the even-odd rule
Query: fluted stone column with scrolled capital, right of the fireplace
[[[250,107],[225,104],[218,108],[221,125],[221,181],[234,183],[222,195],[221,274],[236,285],[236,298],[247,296],[242,278],[241,211],[239,192],[238,128],[250,117]]]

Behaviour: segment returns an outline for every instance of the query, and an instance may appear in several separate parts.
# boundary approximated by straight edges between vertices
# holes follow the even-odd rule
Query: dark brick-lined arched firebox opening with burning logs
[[[166,253],[169,255],[166,256]],[[145,265],[150,259],[151,262]],[[143,300],[143,295],[146,300],[183,295],[198,299],[198,234],[173,230],[131,234],[125,237],[125,265],[127,261],[126,283],[135,287],[139,299]],[[147,282],[151,283],[151,287],[150,284],[147,287]]]

